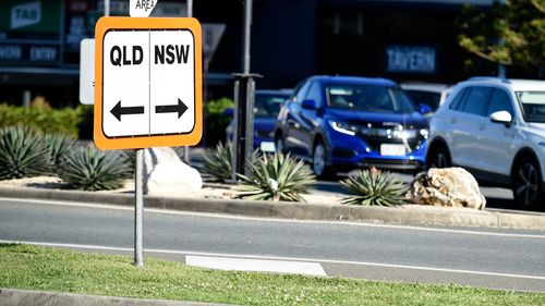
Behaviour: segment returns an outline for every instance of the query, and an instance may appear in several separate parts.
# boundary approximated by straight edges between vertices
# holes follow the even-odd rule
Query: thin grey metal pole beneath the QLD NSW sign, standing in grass
[[[136,150],[136,173],[134,181],[134,266],[144,267],[144,255],[142,253],[144,236],[144,184],[143,184],[144,149]]]

